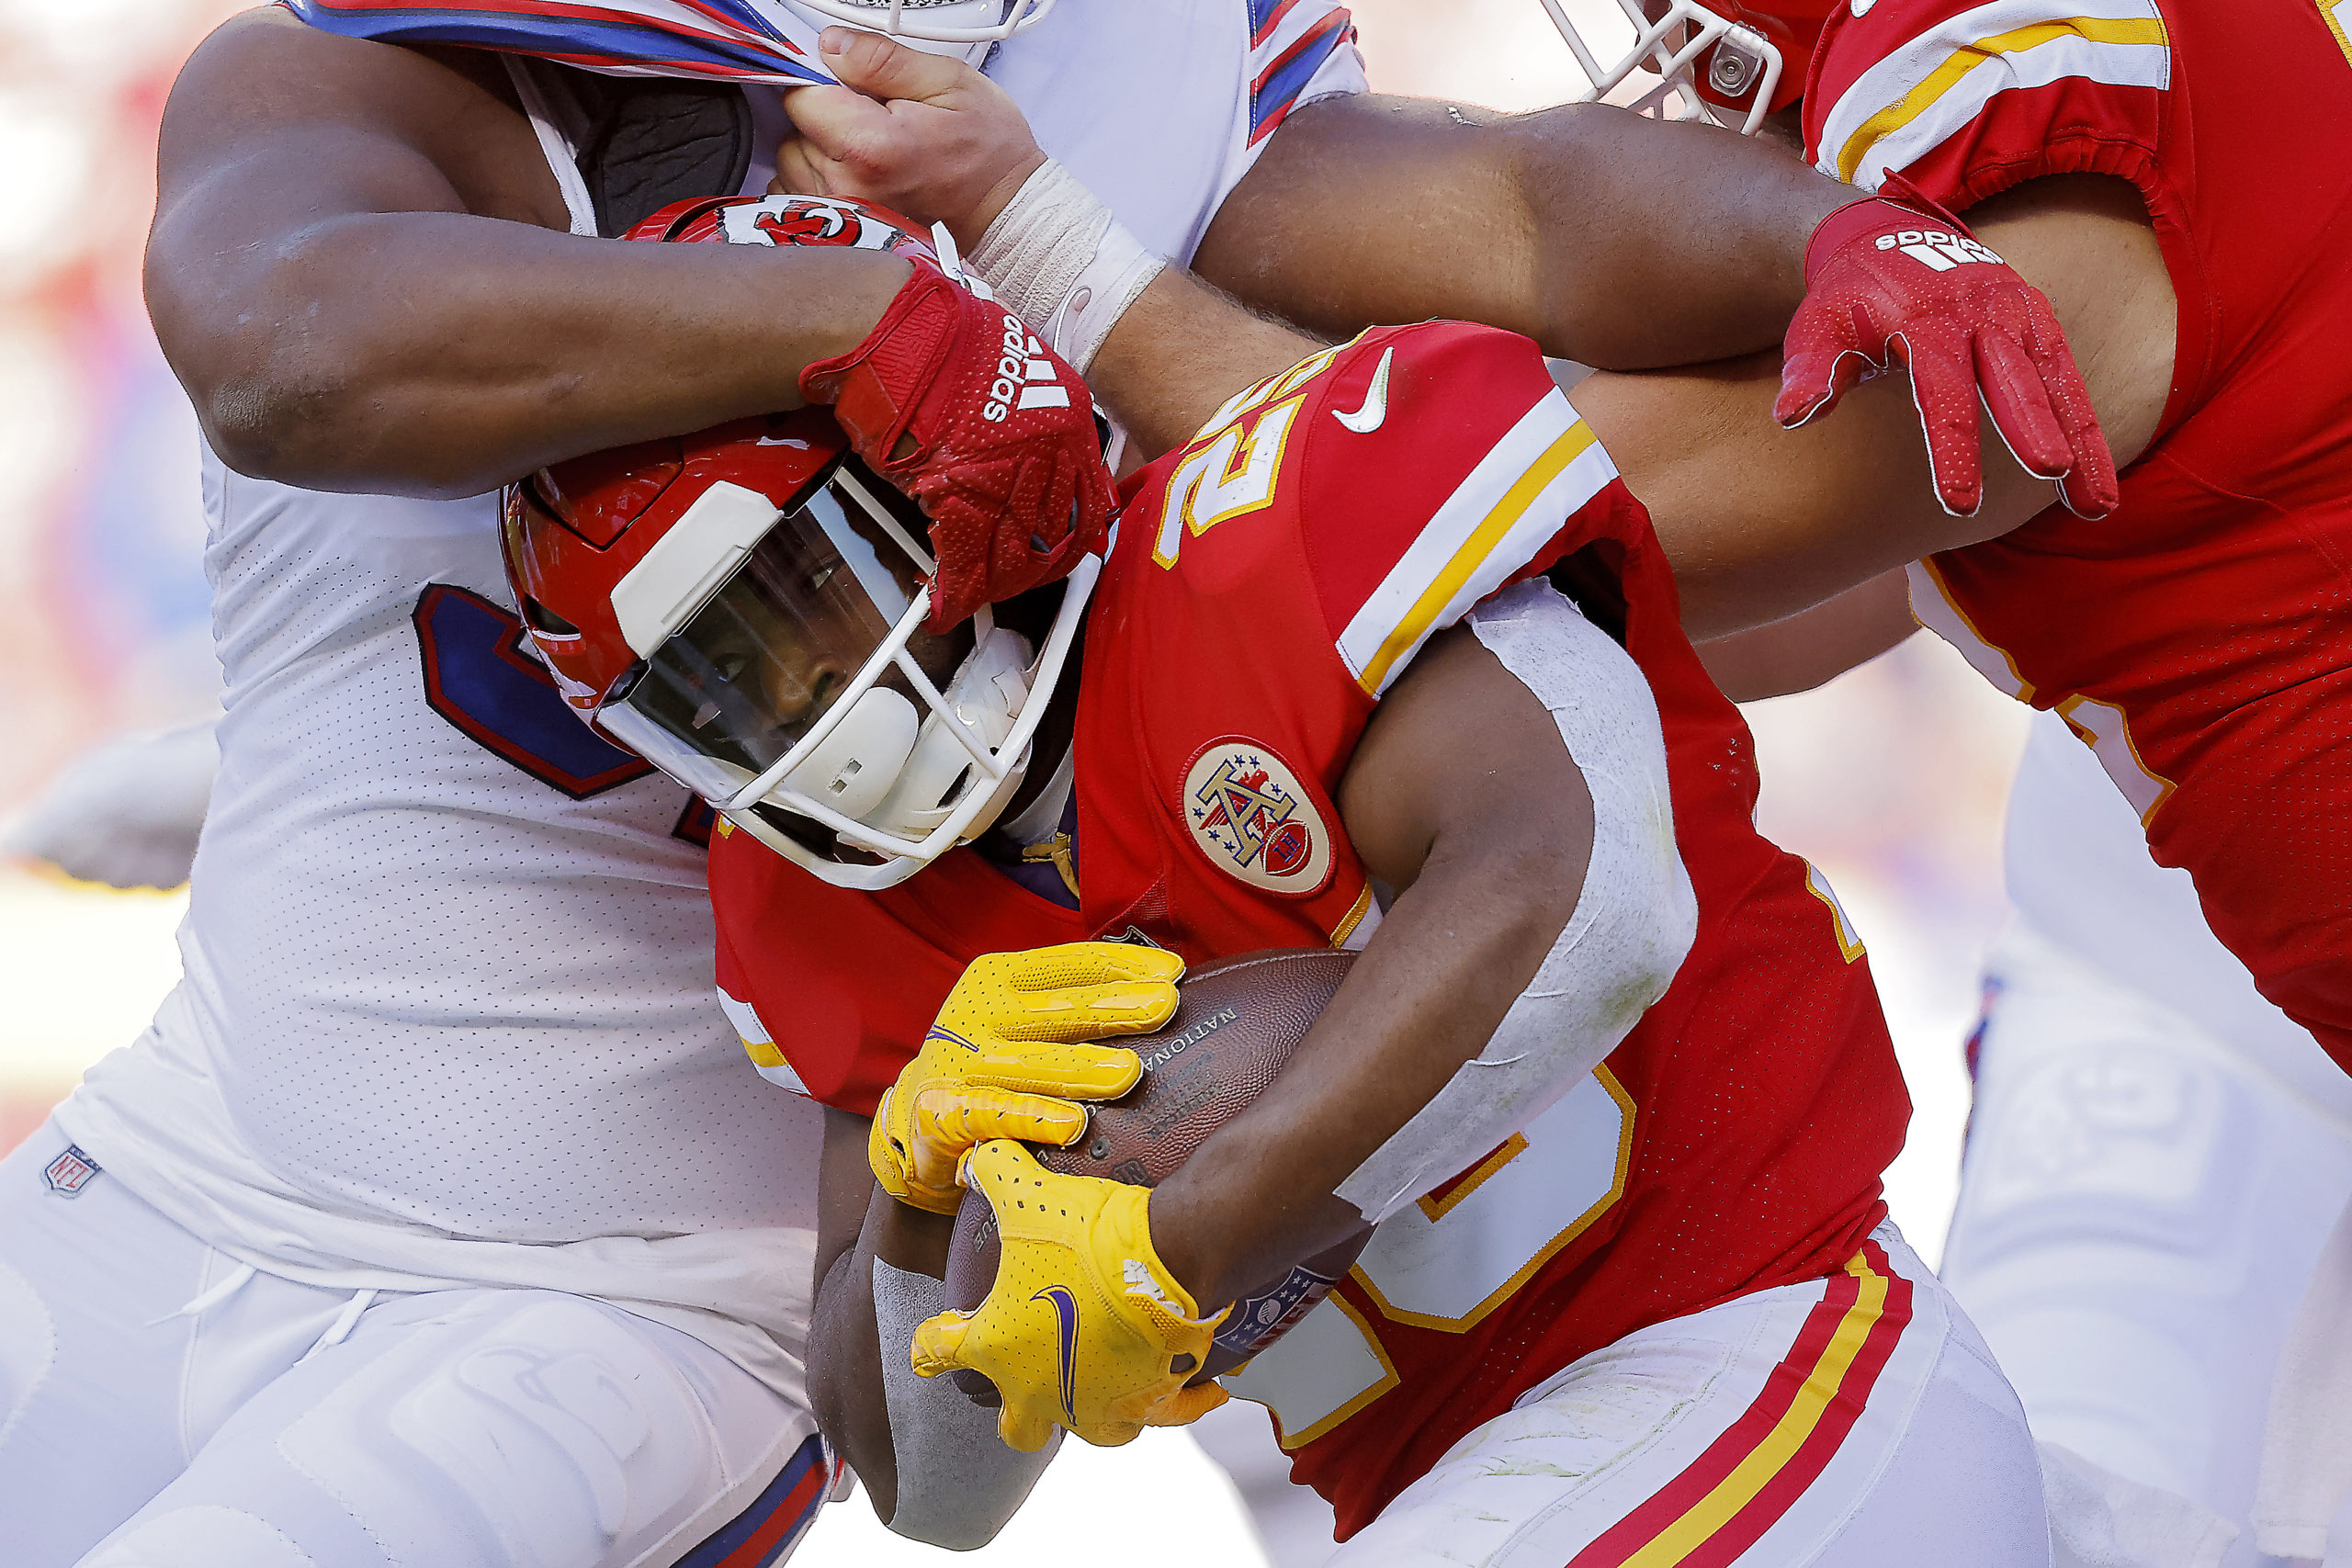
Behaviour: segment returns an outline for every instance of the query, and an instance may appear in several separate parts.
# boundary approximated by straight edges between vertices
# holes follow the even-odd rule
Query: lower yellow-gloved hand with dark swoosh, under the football
[[[1110,1448],[1225,1403],[1183,1387],[1230,1307],[1202,1316],[1152,1251],[1150,1187],[1056,1175],[1018,1143],[983,1143],[964,1180],[997,1213],[1004,1251],[978,1312],[915,1328],[924,1378],[969,1368],[997,1385],[997,1436],[1035,1453],[1068,1427]]]

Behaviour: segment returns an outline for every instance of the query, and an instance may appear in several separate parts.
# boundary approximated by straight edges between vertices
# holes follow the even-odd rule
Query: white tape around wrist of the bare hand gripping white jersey
[[[1051,158],[1028,176],[981,242],[971,270],[997,303],[1087,374],[1103,339],[1167,268],[1110,207]]]

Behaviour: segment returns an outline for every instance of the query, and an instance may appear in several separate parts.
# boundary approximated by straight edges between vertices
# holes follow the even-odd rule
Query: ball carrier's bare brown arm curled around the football
[[[1592,795],[1468,628],[1390,689],[1338,795],[1367,872],[1399,891],[1275,1084],[1152,1192],[1152,1244],[1202,1307],[1364,1222],[1350,1178],[1486,1048],[1585,896]]]

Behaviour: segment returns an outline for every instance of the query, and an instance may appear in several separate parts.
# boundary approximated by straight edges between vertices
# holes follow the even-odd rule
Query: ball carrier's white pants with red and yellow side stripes
[[[1277,1559],[1282,1561],[1282,1559]],[[2046,1568],[2025,1413],[1893,1225],[1830,1281],[1592,1352],[1331,1568]]]

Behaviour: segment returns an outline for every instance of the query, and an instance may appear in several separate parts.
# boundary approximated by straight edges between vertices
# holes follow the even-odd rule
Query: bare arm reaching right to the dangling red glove
[[[1856,193],[1715,127],[1418,99],[1291,115],[1195,268],[1327,336],[1458,317],[1632,369],[1780,341],[1813,226]]]

